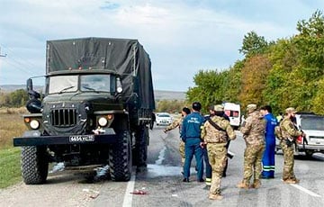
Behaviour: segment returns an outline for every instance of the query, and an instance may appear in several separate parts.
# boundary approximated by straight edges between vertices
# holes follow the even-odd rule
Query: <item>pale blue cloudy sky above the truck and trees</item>
[[[137,39],[155,90],[187,91],[199,70],[244,58],[244,35],[292,37],[323,0],[0,0],[0,85],[45,74],[46,40]]]

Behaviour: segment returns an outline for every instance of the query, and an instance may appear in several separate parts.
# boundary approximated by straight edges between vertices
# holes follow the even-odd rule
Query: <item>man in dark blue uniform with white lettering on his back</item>
[[[200,111],[202,104],[199,102],[193,103],[193,112],[187,115],[183,121],[181,130],[181,139],[184,141],[184,182],[189,182],[190,166],[195,157],[197,165],[197,181],[203,182],[203,161],[202,161],[202,139],[201,139],[201,126],[204,121]]]

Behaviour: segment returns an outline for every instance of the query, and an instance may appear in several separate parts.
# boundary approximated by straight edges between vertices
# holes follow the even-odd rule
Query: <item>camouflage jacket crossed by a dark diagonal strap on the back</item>
[[[207,143],[227,143],[228,139],[236,139],[236,134],[231,128],[229,121],[220,116],[212,116],[214,121],[221,129],[217,130],[209,121],[205,121],[202,125],[202,139]]]

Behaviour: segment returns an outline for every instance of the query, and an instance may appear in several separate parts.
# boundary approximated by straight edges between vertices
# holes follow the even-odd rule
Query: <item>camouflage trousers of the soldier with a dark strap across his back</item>
[[[226,165],[226,143],[208,143],[207,152],[211,164],[211,194],[220,194],[220,178]]]

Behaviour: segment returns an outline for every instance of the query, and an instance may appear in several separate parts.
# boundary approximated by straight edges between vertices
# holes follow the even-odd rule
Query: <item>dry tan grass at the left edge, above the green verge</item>
[[[23,123],[23,108],[0,109],[0,149],[13,148],[13,138],[27,130]]]

